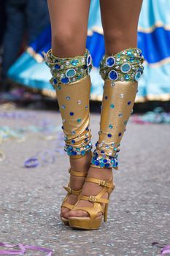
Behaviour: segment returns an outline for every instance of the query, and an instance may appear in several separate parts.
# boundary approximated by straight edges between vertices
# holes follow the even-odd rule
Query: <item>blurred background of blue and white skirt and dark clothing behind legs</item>
[[[135,113],[169,112],[170,100],[170,0],[144,0],[139,18],[138,47],[145,63],[139,81]],[[33,108],[56,108],[42,52],[51,45],[47,0],[1,0],[0,103]],[[99,110],[103,81],[98,66],[104,54],[99,1],[92,0],[87,48],[93,56],[91,106]]]

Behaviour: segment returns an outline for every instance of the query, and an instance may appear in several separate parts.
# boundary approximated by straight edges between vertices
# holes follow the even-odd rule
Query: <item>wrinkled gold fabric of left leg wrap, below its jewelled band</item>
[[[85,148],[91,138],[89,129],[89,95],[89,75],[66,86],[61,85],[61,90],[57,90],[66,141],[65,149],[68,151],[69,146],[74,147],[75,151],[77,151],[76,155],[72,155],[74,158],[81,157],[85,153]],[[70,116],[70,113],[74,113],[74,115]],[[89,150],[90,147],[87,149]]]

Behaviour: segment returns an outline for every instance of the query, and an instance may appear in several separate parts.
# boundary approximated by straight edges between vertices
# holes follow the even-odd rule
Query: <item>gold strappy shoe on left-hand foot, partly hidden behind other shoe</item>
[[[77,171],[75,171],[75,170],[72,170],[71,168],[69,168],[69,173],[70,173],[70,175],[76,176],[76,177],[86,177],[87,174],[88,174],[88,172],[82,172],[82,173],[80,173],[80,172],[77,172]],[[82,185],[83,185],[83,184],[82,184]],[[68,199],[69,195],[77,195],[77,196],[79,196],[79,195],[80,195],[80,192],[82,191],[82,189],[80,189],[80,190],[71,189],[71,187],[70,187],[69,184],[68,184],[68,187],[63,187],[63,188],[66,189],[67,195],[66,195],[66,197],[65,197],[64,200],[63,200],[63,203],[62,203],[62,205],[61,205],[61,208],[62,208],[62,207],[66,207],[66,208],[69,208],[70,210],[72,210],[72,208],[74,207],[74,205],[71,205],[70,203],[68,203],[68,202],[67,202],[67,199]],[[66,219],[66,218],[64,218],[64,217],[61,217],[61,220],[62,220],[63,224],[69,226],[69,220],[68,220],[68,219]]]

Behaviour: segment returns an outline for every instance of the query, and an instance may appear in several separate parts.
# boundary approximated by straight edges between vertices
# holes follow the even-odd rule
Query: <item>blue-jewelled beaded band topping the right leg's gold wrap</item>
[[[139,48],[128,48],[114,56],[104,55],[100,63],[100,75],[103,80],[134,82],[143,74],[144,56]]]

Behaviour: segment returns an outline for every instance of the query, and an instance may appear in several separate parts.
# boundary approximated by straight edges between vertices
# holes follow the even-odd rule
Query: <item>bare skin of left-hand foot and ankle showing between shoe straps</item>
[[[91,153],[88,152],[85,154],[85,157],[79,158],[79,159],[72,159],[70,158],[70,167],[72,170],[75,170],[80,173],[87,173],[89,166],[90,166],[90,159],[91,159]],[[82,189],[82,185],[84,184],[85,177],[77,177],[77,176],[70,176],[70,182],[69,186],[71,189],[74,190],[80,190]],[[77,203],[77,195],[69,195],[69,197],[66,200],[67,203],[74,205]],[[68,219],[69,217],[69,208],[61,207],[61,217],[64,219]]]

